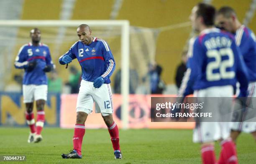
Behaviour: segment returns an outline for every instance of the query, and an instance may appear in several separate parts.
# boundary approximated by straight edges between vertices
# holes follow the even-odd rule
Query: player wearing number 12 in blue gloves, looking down
[[[62,158],[82,158],[81,147],[85,133],[84,123],[92,112],[101,113],[113,144],[115,159],[121,159],[119,132],[113,120],[113,102],[110,88],[110,76],[115,70],[115,60],[105,40],[92,37],[92,30],[82,24],[77,28],[79,41],[59,58],[61,65],[77,58],[82,67],[82,81],[77,97],[77,121],[74,126],[74,148],[69,154],[61,154]]]

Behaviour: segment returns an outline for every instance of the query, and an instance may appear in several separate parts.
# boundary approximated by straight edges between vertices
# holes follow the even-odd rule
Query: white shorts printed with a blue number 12
[[[102,84],[100,88],[95,88],[93,82],[82,80],[77,97],[77,112],[92,113],[94,102],[95,113],[101,113],[102,116],[113,114],[110,84]]]

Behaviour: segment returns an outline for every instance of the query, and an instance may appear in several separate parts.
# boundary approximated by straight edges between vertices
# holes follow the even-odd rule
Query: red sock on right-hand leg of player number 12
[[[110,127],[108,127],[108,132],[111,137],[113,149],[120,150],[118,126],[117,124],[115,124],[115,122],[113,122],[113,124]]]

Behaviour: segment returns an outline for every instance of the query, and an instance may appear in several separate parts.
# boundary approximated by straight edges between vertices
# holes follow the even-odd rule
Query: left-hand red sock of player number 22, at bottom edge
[[[215,164],[214,146],[207,145],[201,148],[202,163]]]

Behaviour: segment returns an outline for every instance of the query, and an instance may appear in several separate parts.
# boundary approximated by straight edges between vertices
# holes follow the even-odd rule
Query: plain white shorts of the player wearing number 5
[[[24,103],[30,103],[33,102],[34,100],[38,99],[44,99],[47,101],[47,92],[48,88],[47,85],[23,85],[23,102]]]

